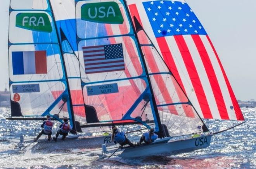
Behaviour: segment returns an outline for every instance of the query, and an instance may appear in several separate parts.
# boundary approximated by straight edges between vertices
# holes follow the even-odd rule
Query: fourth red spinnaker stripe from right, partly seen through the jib
[[[182,87],[183,91],[185,92],[182,80],[180,78],[180,74],[178,73],[176,64],[173,60],[173,56],[171,55],[170,49],[168,47],[168,44],[166,42],[166,39],[164,37],[161,38],[156,38],[158,46],[160,48],[160,51],[163,55],[164,61],[166,63],[166,65],[168,66],[168,68],[171,70],[171,73],[173,74],[173,76],[176,78],[176,80],[178,81],[178,83],[180,84],[180,86],[175,82],[173,82],[173,84],[175,85],[175,89],[177,90],[177,94],[180,98],[181,102],[187,102],[187,98],[185,97],[185,95],[183,95],[183,92],[181,91],[180,87]],[[186,113],[186,115],[188,117],[194,117],[194,113],[193,111],[190,110],[189,107],[182,105],[183,109]]]

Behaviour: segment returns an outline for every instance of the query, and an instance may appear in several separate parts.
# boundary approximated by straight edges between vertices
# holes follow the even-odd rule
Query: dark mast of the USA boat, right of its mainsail
[[[155,111],[155,114],[156,114],[156,119],[157,119],[157,123],[158,123],[158,127],[159,127],[159,137],[164,137],[164,135],[163,135],[164,132],[163,132],[162,124],[161,124],[161,119],[160,119],[159,112],[158,112],[158,109],[157,109],[156,99],[155,99],[154,91],[153,91],[152,84],[151,84],[151,81],[150,81],[149,72],[147,70],[147,65],[146,65],[146,62],[145,62],[145,58],[144,58],[141,46],[139,45],[139,40],[138,40],[137,32],[136,32],[135,27],[134,27],[134,25],[132,23],[131,14],[130,14],[130,11],[128,10],[128,6],[127,6],[127,3],[126,3],[126,0],[123,0],[123,1],[125,3],[126,11],[128,12],[129,20],[131,21],[131,27],[133,29],[135,38],[136,38],[136,40],[138,42],[139,52],[140,52],[140,55],[141,55],[141,58],[142,58],[142,63],[144,65],[144,67],[145,67],[145,73],[146,73],[146,76],[147,76],[147,80],[149,81],[149,88],[150,88],[150,92],[152,94],[152,102],[153,102],[154,111]]]

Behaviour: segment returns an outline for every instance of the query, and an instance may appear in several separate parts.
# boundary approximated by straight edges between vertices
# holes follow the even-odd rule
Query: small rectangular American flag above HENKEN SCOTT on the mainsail
[[[123,45],[107,44],[83,47],[85,73],[101,73],[125,70]]]

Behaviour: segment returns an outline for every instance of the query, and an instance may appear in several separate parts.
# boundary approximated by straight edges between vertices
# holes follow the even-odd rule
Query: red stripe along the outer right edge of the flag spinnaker
[[[226,84],[227,84],[228,92],[229,92],[229,94],[230,94],[230,97],[231,97],[231,100],[232,100],[232,104],[233,104],[233,106],[234,106],[236,118],[237,118],[237,120],[244,120],[244,116],[243,116],[242,111],[241,111],[241,109],[240,109],[240,107],[239,107],[239,104],[238,104],[238,102],[237,102],[237,99],[235,98],[235,94],[234,94],[234,92],[233,92],[233,90],[232,90],[232,87],[231,87],[229,81],[228,81],[228,77],[227,77],[227,75],[226,75],[226,73],[225,73],[225,70],[224,70],[222,64],[221,64],[220,58],[219,58],[219,56],[218,56],[218,54],[217,54],[217,52],[216,52],[216,50],[215,50],[215,48],[214,48],[214,46],[213,46],[213,43],[211,42],[211,39],[210,39],[209,36],[207,36],[207,35],[206,35],[206,37],[207,37],[209,43],[211,44],[211,48],[213,49],[214,54],[215,54],[215,56],[216,56],[216,58],[217,58],[217,60],[218,60],[218,63],[219,63],[219,65],[220,65],[221,72],[222,72],[223,77],[224,77],[224,79],[225,79],[225,82],[226,82]]]

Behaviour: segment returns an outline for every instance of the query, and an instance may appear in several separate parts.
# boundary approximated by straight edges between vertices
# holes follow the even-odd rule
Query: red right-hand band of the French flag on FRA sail
[[[36,74],[47,73],[46,51],[35,51]]]

